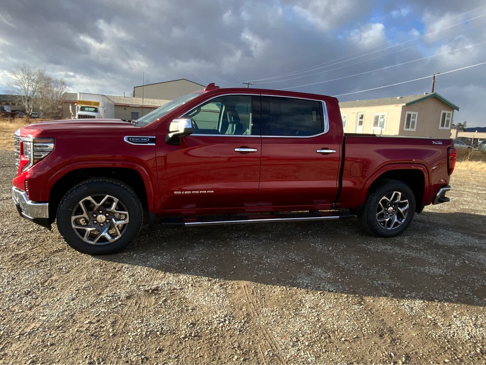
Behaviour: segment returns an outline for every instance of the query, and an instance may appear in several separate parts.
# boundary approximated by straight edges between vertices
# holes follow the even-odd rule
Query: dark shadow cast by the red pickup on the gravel
[[[100,260],[315,291],[486,306],[486,217],[424,212],[399,237],[356,219],[200,228],[146,226]]]

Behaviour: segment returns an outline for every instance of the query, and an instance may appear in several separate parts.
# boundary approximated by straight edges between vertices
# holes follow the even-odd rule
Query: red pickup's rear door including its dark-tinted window
[[[330,206],[338,191],[341,142],[326,103],[261,97],[259,206]]]

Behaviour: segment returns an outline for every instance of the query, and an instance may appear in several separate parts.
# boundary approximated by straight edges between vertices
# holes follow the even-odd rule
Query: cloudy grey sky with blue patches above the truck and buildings
[[[340,95],[440,72],[454,122],[485,127],[486,64],[444,74],[486,62],[485,25],[486,0],[3,0],[0,92],[23,62],[112,95],[143,73]],[[426,78],[339,100],[430,91]]]

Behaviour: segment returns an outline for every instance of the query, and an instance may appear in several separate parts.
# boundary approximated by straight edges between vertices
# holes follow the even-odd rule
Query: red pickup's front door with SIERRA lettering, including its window
[[[164,144],[157,150],[167,153],[158,168],[164,210],[205,214],[257,206],[260,95],[219,96],[182,118],[191,118],[194,128],[180,145],[157,138]]]

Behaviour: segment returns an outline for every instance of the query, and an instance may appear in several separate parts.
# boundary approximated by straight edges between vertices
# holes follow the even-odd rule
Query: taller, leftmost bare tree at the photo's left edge
[[[35,100],[46,82],[46,71],[27,64],[14,66],[11,71],[12,82],[7,92],[18,95],[18,103],[25,108],[27,115],[34,110]]]

